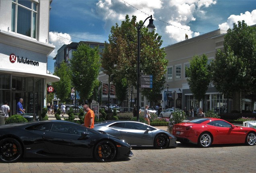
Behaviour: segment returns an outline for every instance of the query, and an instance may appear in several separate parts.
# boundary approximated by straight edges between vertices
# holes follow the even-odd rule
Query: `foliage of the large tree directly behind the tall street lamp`
[[[142,26],[142,21],[136,22],[126,15],[121,26],[112,26],[109,43],[105,42],[101,62],[103,72],[110,76],[110,81],[116,83],[125,79],[130,85],[137,84],[137,30]],[[160,94],[164,89],[167,60],[161,36],[149,33],[145,26],[140,29],[140,70],[144,74],[153,74],[153,89],[144,89],[143,95],[151,100],[151,94]],[[152,100],[151,100],[152,101]]]

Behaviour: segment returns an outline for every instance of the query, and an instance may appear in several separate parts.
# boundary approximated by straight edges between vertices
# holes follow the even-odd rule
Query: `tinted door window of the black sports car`
[[[52,130],[51,131],[52,132],[58,132],[58,133],[72,134],[72,135],[81,135],[81,132],[85,132],[87,130],[83,127],[79,127],[79,126],[76,126],[76,125],[54,123],[52,125]]]

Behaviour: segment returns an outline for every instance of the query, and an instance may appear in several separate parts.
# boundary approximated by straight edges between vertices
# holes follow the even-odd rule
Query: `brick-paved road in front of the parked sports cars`
[[[0,173],[255,173],[256,146],[133,148],[133,157],[98,163],[94,159],[21,159],[0,163]]]

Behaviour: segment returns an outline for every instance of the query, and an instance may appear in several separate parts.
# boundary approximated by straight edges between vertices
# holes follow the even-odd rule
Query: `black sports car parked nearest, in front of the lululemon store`
[[[38,121],[0,126],[0,160],[21,157],[95,158],[109,162],[133,156],[124,141],[68,121]]]

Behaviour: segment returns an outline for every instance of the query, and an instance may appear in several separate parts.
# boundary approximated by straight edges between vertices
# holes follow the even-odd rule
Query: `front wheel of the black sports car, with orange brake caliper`
[[[100,141],[94,149],[94,157],[100,162],[109,162],[116,157],[116,147],[111,141]]]

